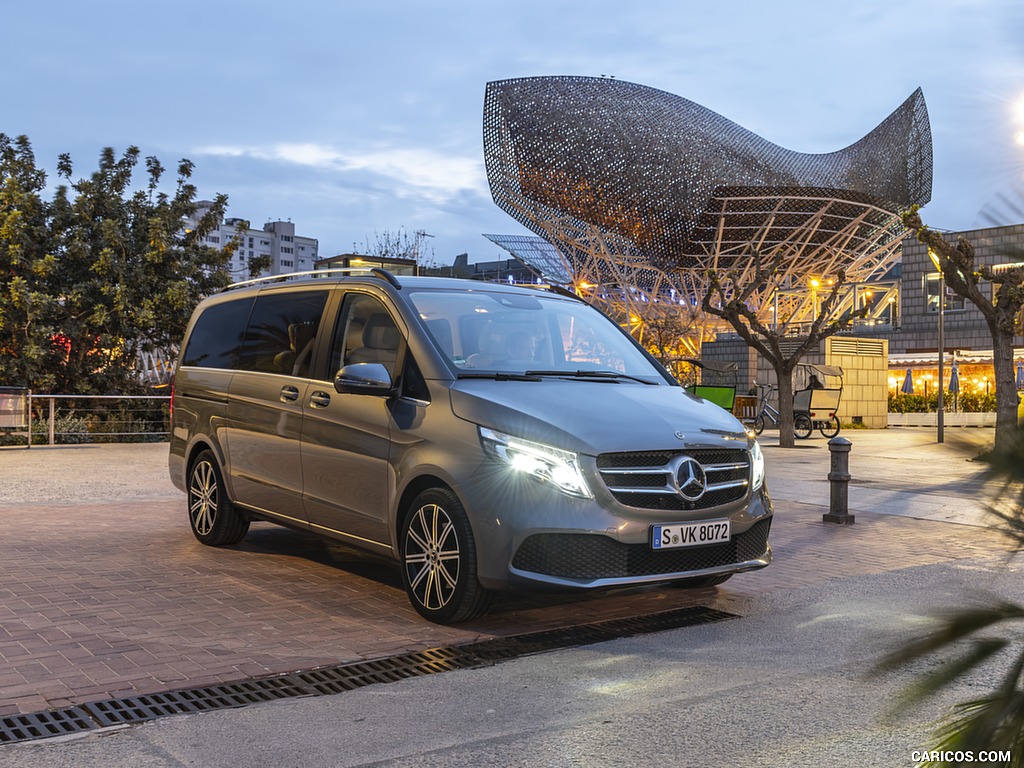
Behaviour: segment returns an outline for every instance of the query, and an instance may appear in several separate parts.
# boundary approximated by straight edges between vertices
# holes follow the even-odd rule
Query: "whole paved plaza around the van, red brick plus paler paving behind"
[[[0,449],[0,716],[1004,556],[968,461],[991,431],[944,445],[927,430],[849,437],[854,525],[822,522],[825,440],[763,440],[768,568],[717,589],[502,595],[459,627],[421,620],[390,563],[302,532],[259,523],[238,547],[200,545],[165,445]]]

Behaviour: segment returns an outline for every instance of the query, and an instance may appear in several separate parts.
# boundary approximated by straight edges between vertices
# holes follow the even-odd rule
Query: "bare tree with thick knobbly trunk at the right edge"
[[[974,246],[963,236],[950,243],[940,232],[929,229],[921,220],[918,206],[903,214],[903,224],[918,242],[928,247],[938,262],[949,288],[978,307],[992,337],[992,368],[995,375],[995,450],[1005,451],[1017,433],[1017,384],[1014,379],[1014,336],[1024,307],[1024,250],[1005,247],[1009,264],[996,269],[978,264]],[[993,296],[983,290],[984,283],[997,285]],[[940,301],[944,297],[940,297]]]

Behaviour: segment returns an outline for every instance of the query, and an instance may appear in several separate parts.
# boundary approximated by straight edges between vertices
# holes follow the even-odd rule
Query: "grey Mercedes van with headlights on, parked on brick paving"
[[[563,291],[384,270],[203,301],[170,474],[199,541],[252,520],[393,558],[440,624],[495,590],[721,584],[771,561],[757,441]]]

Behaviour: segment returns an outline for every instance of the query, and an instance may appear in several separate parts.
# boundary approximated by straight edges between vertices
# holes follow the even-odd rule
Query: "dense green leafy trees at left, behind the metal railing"
[[[199,300],[228,282],[223,251],[202,244],[227,206],[224,196],[190,230],[197,213],[193,164],[178,165],[174,193],[164,168],[139,151],[103,150],[99,167],[41,197],[46,175],[28,138],[0,134],[0,384],[60,393],[139,389],[142,350],[173,352]]]

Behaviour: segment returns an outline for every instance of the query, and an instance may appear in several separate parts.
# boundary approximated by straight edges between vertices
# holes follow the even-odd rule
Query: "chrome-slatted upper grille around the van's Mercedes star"
[[[699,462],[708,478],[707,489],[696,501],[684,499],[673,485],[673,472],[684,456]],[[597,469],[620,504],[637,509],[688,511],[730,504],[746,496],[750,455],[733,449],[601,454]]]

